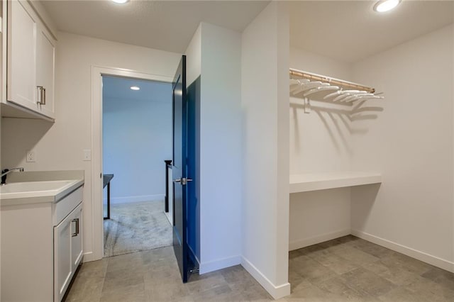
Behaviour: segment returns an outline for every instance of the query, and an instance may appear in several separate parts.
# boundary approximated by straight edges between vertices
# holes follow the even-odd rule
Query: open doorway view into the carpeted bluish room
[[[172,245],[171,159],[172,84],[102,75],[104,257]]]

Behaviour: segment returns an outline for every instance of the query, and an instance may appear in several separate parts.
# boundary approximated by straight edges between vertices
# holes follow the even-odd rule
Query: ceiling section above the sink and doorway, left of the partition
[[[42,1],[58,30],[183,53],[204,21],[243,31],[270,1]]]

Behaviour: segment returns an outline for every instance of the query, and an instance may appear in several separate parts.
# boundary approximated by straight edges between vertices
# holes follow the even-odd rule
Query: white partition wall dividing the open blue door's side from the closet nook
[[[245,28],[243,106],[243,267],[275,298],[290,293],[289,23],[270,3]]]

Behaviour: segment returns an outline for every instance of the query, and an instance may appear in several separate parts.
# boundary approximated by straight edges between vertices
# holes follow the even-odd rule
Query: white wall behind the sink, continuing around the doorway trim
[[[4,118],[2,164],[21,166],[28,171],[84,170],[84,259],[89,260],[94,246],[92,162],[82,161],[82,150],[92,145],[91,67],[118,67],[173,77],[181,55],[70,33],[59,33],[58,38],[55,124]],[[36,152],[35,163],[25,162],[25,152],[31,149]]]

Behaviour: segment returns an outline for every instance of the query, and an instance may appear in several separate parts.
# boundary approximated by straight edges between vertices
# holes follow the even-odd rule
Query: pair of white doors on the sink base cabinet
[[[82,260],[82,203],[54,227],[55,301],[62,301]]]

